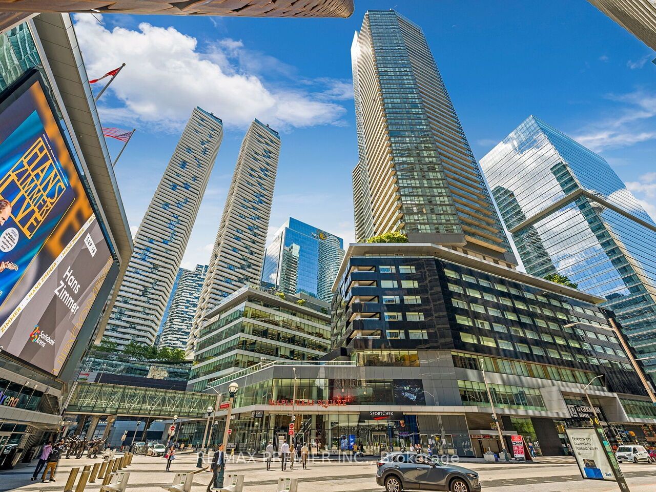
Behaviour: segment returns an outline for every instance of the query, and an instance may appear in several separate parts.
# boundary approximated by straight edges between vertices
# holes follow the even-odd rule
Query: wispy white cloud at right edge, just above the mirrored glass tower
[[[622,148],[656,138],[656,94],[645,91],[609,94],[619,107],[611,117],[588,125],[574,137],[593,152]]]

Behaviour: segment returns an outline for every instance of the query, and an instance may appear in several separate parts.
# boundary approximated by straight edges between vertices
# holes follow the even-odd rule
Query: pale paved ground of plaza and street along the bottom
[[[0,492],[5,491],[43,491],[61,492],[66,478],[73,466],[92,464],[91,459],[62,459],[57,468],[56,482],[30,482],[34,464],[20,464],[14,470],[0,472]],[[166,461],[161,457],[134,456],[133,463],[126,471],[131,472],[127,489],[130,492],[161,492],[165,485],[173,481],[174,472],[197,470],[196,457],[180,454],[165,471]],[[294,470],[281,472],[279,462],[270,472],[261,459],[228,463],[226,472],[245,475],[243,492],[274,492],[277,479],[281,476],[298,478],[298,492],[382,492],[376,485],[376,464],[373,461],[342,463],[317,461],[302,470],[298,463]],[[491,492],[615,492],[619,487],[613,482],[583,480],[573,459],[544,458],[537,463],[485,463],[466,462],[463,466],[480,473],[483,490]],[[622,465],[631,492],[654,492],[656,490],[656,464]],[[512,476],[512,478],[510,478]],[[192,492],[203,492],[211,474],[200,472],[194,478]],[[86,491],[97,492],[100,480],[87,485]]]

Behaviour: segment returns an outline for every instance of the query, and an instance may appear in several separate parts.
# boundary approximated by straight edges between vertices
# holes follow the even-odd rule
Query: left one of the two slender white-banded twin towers
[[[155,342],[222,138],[222,121],[195,108],[134,237],[105,330],[109,340]]]

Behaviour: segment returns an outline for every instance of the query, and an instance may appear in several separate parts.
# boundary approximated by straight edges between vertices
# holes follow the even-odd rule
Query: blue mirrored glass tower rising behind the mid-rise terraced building
[[[285,294],[302,292],[331,302],[343,248],[342,238],[290,217],[266,248],[262,281]]]

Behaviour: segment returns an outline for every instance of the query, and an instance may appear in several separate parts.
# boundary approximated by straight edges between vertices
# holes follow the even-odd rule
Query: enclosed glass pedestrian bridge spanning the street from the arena
[[[79,381],[66,407],[67,415],[120,415],[172,419],[203,419],[215,394],[121,386]]]

